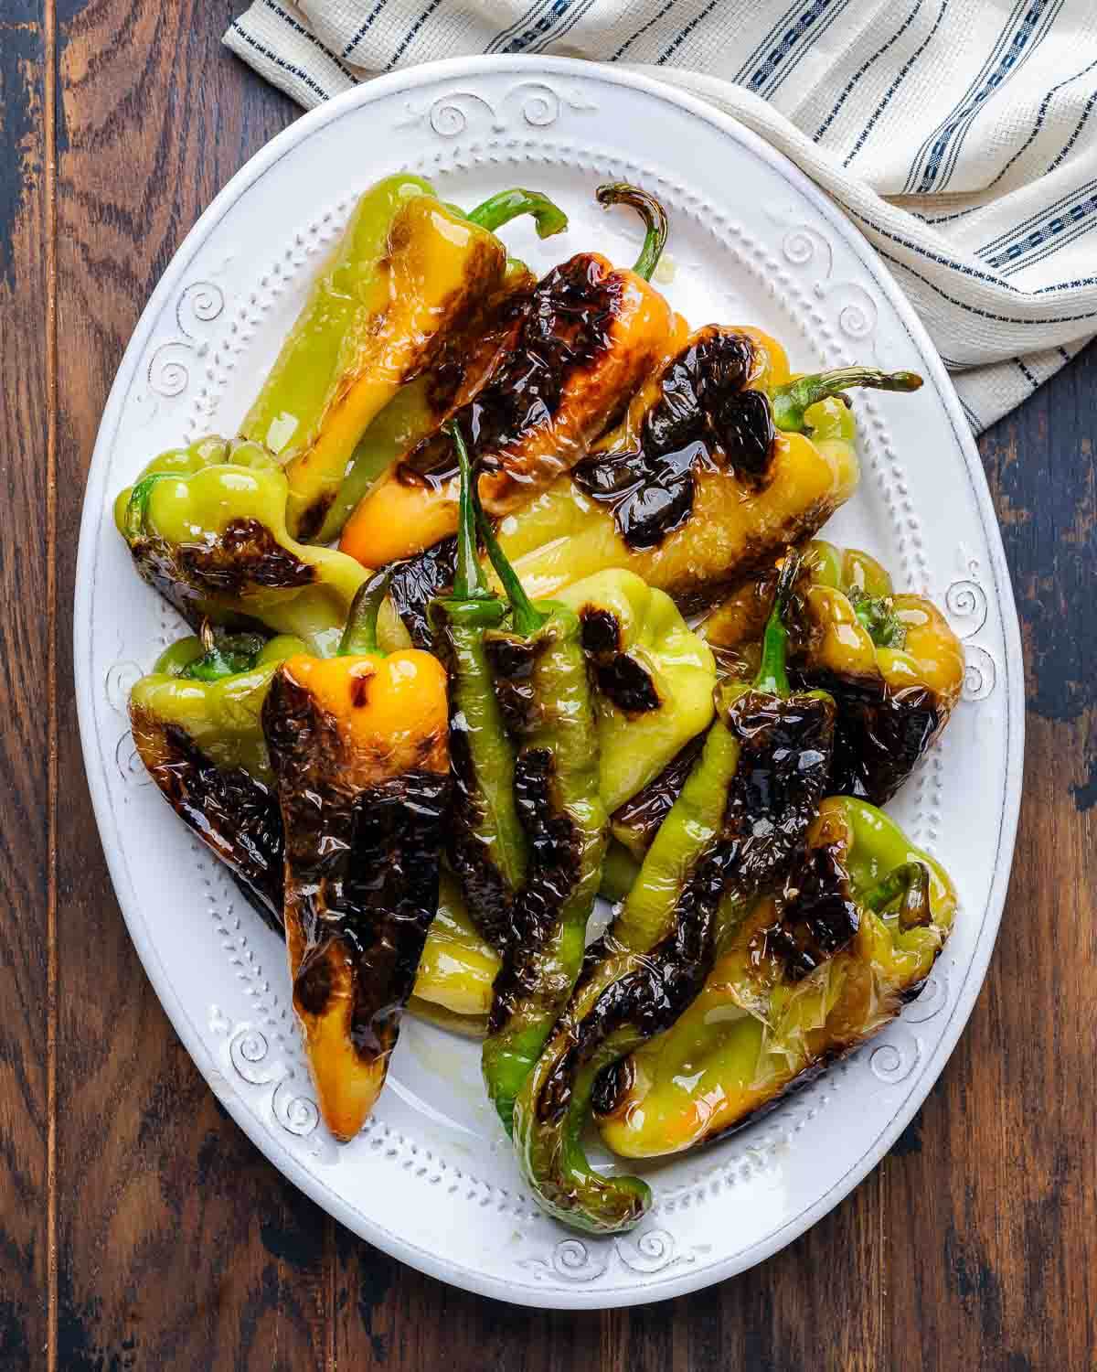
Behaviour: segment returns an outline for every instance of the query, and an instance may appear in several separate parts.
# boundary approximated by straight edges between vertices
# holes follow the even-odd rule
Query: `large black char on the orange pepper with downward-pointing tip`
[[[448,777],[413,770],[357,786],[337,722],[281,671],[263,733],[285,825],[287,908],[304,945],[295,999],[322,1013],[330,980],[320,966],[337,944],[352,969],[351,1039],[376,1058],[395,1043],[437,910]]]

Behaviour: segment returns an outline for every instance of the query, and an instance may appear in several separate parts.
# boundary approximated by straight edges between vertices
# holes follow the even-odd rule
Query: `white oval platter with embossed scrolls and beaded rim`
[[[355,196],[413,169],[447,200],[531,185],[572,217],[536,269],[639,228],[592,199],[627,177],[671,217],[661,285],[694,324],[753,322],[801,370],[861,359],[921,372],[915,397],[856,402],[864,477],[828,536],[928,591],[965,643],[964,700],[891,805],[953,873],[956,932],[924,993],[878,1040],[739,1135],[646,1169],[654,1206],[617,1239],[570,1235],[518,1176],[479,1081],[477,1045],[411,1021],[376,1117],[337,1147],[317,1115],[284,951],[148,782],[130,685],[181,624],[134,575],[110,502],[155,453],[233,432]],[[967,1021],[1005,897],[1020,799],[1023,674],[1009,578],[956,394],[878,257],[784,158],[731,119],[612,67],[459,59],[361,86],[274,139],[186,236],[126,350],[81,528],[75,675],[88,779],[114,886],[160,1000],[233,1118],[370,1243],[506,1301],[599,1308],[719,1281],[790,1243],[879,1162]],[[605,1158],[609,1165],[609,1158]]]

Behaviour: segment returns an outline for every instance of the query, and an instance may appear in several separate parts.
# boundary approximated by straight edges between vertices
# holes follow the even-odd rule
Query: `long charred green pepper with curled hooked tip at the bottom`
[[[602,1177],[587,1163],[581,1131],[598,1074],[694,999],[712,965],[721,900],[740,904],[783,879],[823,793],[834,704],[788,689],[782,612],[791,575],[758,678],[723,689],[701,757],[514,1107],[514,1143],[533,1194],[576,1228],[632,1228],[650,1202],[639,1179]]]

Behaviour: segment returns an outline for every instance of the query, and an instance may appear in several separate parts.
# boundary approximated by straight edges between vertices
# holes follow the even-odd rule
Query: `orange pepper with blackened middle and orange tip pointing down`
[[[376,646],[384,587],[357,598],[340,654],[298,654],[263,704],[285,830],[293,1008],[340,1142],[384,1085],[437,908],[448,801],[446,672]]]

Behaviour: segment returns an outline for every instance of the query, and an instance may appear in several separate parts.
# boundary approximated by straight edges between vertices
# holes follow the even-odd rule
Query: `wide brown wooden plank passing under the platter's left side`
[[[70,4],[58,33],[63,1372],[328,1365],[330,1224],[225,1117],[169,1028],[111,893],[74,727],[69,605],[107,390],[182,233],[292,113],[240,80],[211,11]]]

